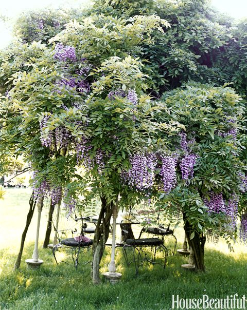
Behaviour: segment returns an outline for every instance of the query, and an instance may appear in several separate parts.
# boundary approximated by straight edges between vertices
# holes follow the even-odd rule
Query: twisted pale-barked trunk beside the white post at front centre
[[[110,220],[113,211],[113,203],[108,204],[104,197],[100,197],[100,200],[101,210],[93,242],[92,280],[94,284],[100,283],[99,264],[104,253],[105,242],[109,237]]]

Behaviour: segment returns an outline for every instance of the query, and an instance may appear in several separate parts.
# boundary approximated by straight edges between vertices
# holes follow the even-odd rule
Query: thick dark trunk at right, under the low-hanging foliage
[[[206,242],[206,237],[203,234],[199,235],[197,231],[192,229],[192,226],[189,224],[185,214],[183,217],[184,217],[184,230],[187,236],[188,244],[193,250],[195,268],[196,270],[205,272],[204,245]],[[195,233],[195,237],[192,240],[190,240],[192,232]]]

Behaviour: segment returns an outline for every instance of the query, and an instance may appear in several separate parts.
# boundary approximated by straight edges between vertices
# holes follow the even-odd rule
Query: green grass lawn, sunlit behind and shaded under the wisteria
[[[247,248],[235,246],[235,253],[229,253],[227,245],[206,244],[206,273],[191,273],[181,264],[186,259],[178,254],[168,257],[166,269],[160,265],[145,264],[135,277],[134,266],[127,267],[121,249],[117,249],[117,271],[122,280],[116,285],[102,283],[93,285],[90,264],[79,265],[75,270],[69,254],[63,259],[69,264],[56,265],[49,249],[42,249],[46,226],[46,210],[41,220],[40,258],[44,260],[40,269],[27,268],[25,259],[31,258],[36,231],[34,217],[25,243],[21,268],[13,271],[22,230],[28,211],[30,190],[8,189],[1,204],[1,309],[16,310],[168,310],[172,295],[181,298],[224,298],[227,295],[247,295]],[[183,230],[175,231],[182,246]],[[107,271],[110,248],[104,255],[101,272]]]

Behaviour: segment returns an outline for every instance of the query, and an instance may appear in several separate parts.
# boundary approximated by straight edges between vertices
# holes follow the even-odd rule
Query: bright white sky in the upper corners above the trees
[[[16,17],[22,11],[45,7],[78,7],[90,0],[5,0],[0,6],[0,16]],[[247,0],[211,0],[219,11],[235,18],[247,17]],[[11,29],[0,21],[0,48],[4,48],[11,41]]]

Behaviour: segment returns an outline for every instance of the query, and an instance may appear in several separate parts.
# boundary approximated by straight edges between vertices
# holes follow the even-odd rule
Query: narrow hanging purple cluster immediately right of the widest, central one
[[[177,160],[171,156],[162,158],[161,177],[163,182],[163,189],[166,193],[170,192],[177,184],[176,175]]]

